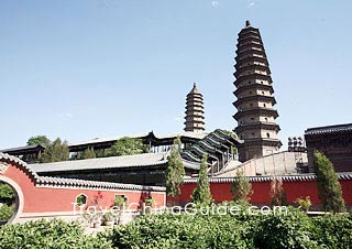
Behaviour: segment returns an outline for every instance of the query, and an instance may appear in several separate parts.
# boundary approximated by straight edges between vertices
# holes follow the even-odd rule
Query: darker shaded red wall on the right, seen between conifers
[[[352,206],[352,180],[340,181],[343,198],[348,206]],[[196,183],[185,183],[182,187],[182,194],[176,197],[176,203],[185,204],[190,202],[190,195],[196,187]],[[286,192],[287,202],[293,204],[298,197],[310,196],[312,204],[320,204],[318,198],[317,183],[315,181],[284,182],[283,187]],[[250,202],[258,205],[271,203],[270,190],[271,182],[252,182],[253,194]],[[210,191],[215,202],[231,201],[231,183],[210,183]],[[167,197],[167,203],[172,199]]]

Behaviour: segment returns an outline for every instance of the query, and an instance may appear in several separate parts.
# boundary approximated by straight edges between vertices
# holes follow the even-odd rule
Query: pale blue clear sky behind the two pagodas
[[[282,131],[352,122],[352,2],[1,0],[0,149],[184,129],[194,82],[206,128],[232,130],[238,33],[258,28]]]

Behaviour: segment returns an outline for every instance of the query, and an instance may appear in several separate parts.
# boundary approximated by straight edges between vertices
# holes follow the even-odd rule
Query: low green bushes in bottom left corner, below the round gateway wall
[[[85,235],[84,229],[76,223],[68,224],[54,219],[3,226],[0,229],[0,248],[109,249],[112,247],[103,237]]]

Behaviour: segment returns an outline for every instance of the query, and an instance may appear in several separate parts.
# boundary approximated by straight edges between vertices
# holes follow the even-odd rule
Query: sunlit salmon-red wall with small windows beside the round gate
[[[129,205],[131,203],[142,203],[148,194],[141,191],[36,187],[30,176],[16,165],[10,165],[4,176],[14,181],[22,190],[24,196],[23,213],[73,212],[72,203],[75,203],[76,196],[80,194],[88,197],[88,205],[96,205],[95,199],[98,197],[98,207],[101,206],[102,208],[113,206],[114,195],[124,195],[128,198],[127,205]],[[156,206],[165,205],[165,194],[163,192],[152,192],[151,196],[155,199]],[[133,209],[136,208],[138,206],[134,205]]]

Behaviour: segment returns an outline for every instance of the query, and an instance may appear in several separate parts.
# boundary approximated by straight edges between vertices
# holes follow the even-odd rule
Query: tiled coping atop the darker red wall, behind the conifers
[[[307,182],[315,181],[315,174],[276,175],[276,176],[249,176],[250,182],[271,182],[273,178],[282,178],[283,182]],[[338,173],[339,180],[352,180],[352,173]],[[209,177],[210,183],[232,183],[235,177]],[[198,178],[185,178],[185,183],[197,183]]]

